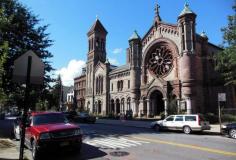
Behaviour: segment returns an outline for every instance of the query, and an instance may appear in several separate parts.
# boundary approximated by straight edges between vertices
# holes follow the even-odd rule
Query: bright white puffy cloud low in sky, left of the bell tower
[[[64,86],[71,86],[74,84],[74,78],[81,74],[83,67],[85,67],[84,61],[72,59],[67,67],[56,70],[55,74],[61,75],[62,84]]]

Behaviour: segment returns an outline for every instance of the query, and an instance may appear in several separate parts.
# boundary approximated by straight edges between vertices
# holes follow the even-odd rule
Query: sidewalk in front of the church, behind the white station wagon
[[[96,123],[138,128],[150,128],[151,121],[97,119]],[[220,126],[219,124],[211,125],[211,130],[205,130],[204,132],[209,134],[220,135]]]

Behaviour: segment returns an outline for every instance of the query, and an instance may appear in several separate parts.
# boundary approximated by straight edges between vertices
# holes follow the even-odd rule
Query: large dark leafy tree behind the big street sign
[[[23,6],[18,0],[0,0],[0,56],[3,53],[3,44],[8,44],[6,62],[3,64],[5,74],[2,74],[1,82],[5,94],[12,95],[12,98],[22,105],[22,90],[24,87],[13,84],[11,81],[12,66],[14,60],[28,50],[34,51],[45,64],[44,84],[41,87],[32,87],[34,106],[41,91],[49,88],[53,79],[49,76],[49,72],[53,70],[49,58],[52,54],[48,51],[48,47],[52,45],[49,34],[46,33],[48,25],[41,25],[40,20],[27,7]],[[19,101],[17,101],[19,100]]]

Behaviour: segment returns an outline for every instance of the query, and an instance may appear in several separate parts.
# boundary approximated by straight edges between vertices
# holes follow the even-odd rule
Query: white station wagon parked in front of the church
[[[152,122],[151,128],[156,131],[162,129],[182,130],[184,133],[189,134],[192,131],[210,130],[210,125],[201,115],[189,114],[170,115],[164,120]]]

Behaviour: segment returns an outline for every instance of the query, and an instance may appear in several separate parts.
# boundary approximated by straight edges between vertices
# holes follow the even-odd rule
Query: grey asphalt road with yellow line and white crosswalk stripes
[[[104,124],[79,124],[84,132],[80,153],[61,149],[43,159],[58,160],[235,160],[236,140],[218,135]],[[15,141],[18,144],[17,141]],[[26,150],[27,157],[30,151]]]

